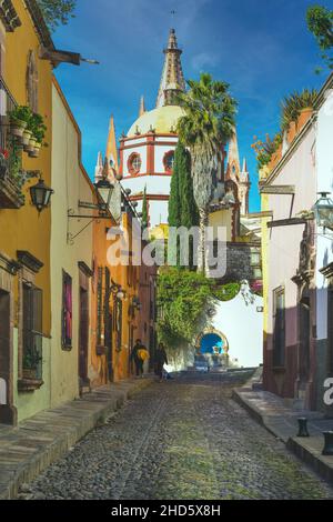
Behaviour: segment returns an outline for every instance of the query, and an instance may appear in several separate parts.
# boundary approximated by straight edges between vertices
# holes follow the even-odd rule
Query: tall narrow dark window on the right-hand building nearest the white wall
[[[285,294],[284,288],[273,291],[273,364],[284,365],[285,354]]]

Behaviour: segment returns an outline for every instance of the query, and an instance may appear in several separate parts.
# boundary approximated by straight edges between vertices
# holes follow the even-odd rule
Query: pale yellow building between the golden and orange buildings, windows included
[[[81,163],[81,132],[53,79],[51,205],[51,406],[89,389],[90,309],[93,275],[90,219],[80,204],[94,204],[94,188]]]

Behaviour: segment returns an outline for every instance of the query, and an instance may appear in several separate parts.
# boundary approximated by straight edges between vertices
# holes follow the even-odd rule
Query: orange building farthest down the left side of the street
[[[115,182],[117,183],[117,182]],[[119,185],[120,187],[120,185]],[[94,223],[93,285],[92,285],[92,351],[91,384],[120,381],[133,373],[131,351],[137,339],[150,349],[153,358],[155,344],[155,267],[134,264],[132,228],[137,214],[128,198],[121,194],[122,210],[119,221]],[[121,234],[108,239],[107,228],[118,228]],[[120,238],[129,238],[120,245],[115,265],[110,247]],[[141,242],[143,247],[143,242]],[[128,264],[127,264],[128,262]]]

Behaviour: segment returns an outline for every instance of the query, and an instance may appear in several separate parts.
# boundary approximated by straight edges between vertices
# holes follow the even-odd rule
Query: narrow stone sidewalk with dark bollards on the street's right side
[[[323,431],[333,430],[333,419],[325,419],[317,411],[286,408],[281,398],[260,389],[261,373],[262,370],[258,370],[244,387],[234,390],[234,399],[323,479],[333,483],[333,456],[322,455]],[[296,436],[301,416],[307,419],[309,438]]]

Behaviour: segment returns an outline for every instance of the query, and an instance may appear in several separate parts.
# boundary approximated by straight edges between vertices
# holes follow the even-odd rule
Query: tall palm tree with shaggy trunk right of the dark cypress
[[[178,134],[191,152],[193,192],[200,213],[198,270],[205,272],[209,205],[222,169],[223,147],[234,132],[236,102],[229,93],[229,84],[213,81],[209,73],[201,73],[199,81],[190,80],[188,84],[189,91],[179,94],[184,116],[178,122]]]

